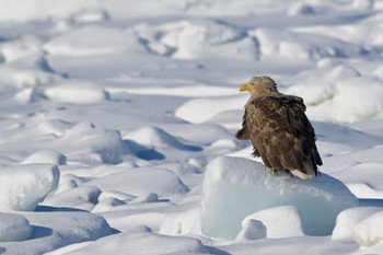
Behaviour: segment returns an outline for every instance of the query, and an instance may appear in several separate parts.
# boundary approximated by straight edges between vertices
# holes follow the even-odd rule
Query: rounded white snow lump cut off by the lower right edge
[[[353,229],[353,239],[360,246],[372,246],[383,240],[383,211],[376,212]]]

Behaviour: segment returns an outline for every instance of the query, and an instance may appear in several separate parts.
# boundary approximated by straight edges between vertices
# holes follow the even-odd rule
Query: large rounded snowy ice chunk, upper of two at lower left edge
[[[56,165],[28,164],[0,171],[0,210],[33,211],[54,190],[60,171]]]

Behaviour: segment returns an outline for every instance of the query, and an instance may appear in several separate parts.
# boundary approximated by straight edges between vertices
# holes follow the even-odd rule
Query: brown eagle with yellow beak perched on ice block
[[[251,140],[253,155],[260,157],[274,173],[290,172],[302,179],[317,176],[322,159],[303,98],[278,92],[269,77],[253,77],[240,86],[243,91],[248,91],[251,97],[235,137]]]

